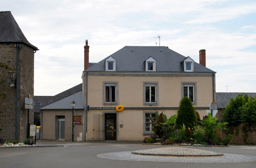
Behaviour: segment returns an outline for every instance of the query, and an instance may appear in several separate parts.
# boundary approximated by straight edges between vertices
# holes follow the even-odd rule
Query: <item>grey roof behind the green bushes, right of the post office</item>
[[[216,104],[218,105],[219,109],[223,109],[227,106],[227,104],[230,102],[231,98],[236,98],[238,94],[247,94],[248,96],[255,97],[256,93],[242,93],[242,92],[234,92],[234,93],[222,93],[217,92],[216,93]]]

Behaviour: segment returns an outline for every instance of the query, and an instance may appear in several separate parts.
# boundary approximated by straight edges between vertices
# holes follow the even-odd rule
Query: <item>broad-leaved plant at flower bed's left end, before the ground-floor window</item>
[[[154,133],[161,139],[164,134],[165,125],[167,122],[166,115],[164,115],[163,112],[160,114],[156,112],[156,121],[154,121],[151,117],[150,120],[151,121],[148,121],[148,123],[154,127]]]

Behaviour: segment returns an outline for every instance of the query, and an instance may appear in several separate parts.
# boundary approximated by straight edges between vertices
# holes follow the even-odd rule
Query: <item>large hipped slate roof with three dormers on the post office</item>
[[[186,58],[164,46],[125,46],[111,56],[116,59],[116,71],[139,72],[145,71],[143,62],[150,56],[156,60],[156,71],[184,72],[180,62]],[[105,59],[85,71],[105,71]],[[194,62],[194,72],[212,73],[214,71]]]

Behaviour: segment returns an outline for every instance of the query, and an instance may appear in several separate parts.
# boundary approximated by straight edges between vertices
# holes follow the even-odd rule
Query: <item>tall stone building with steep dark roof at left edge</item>
[[[28,94],[34,96],[34,53],[37,50],[37,47],[28,42],[12,13],[0,12],[0,62],[13,68],[13,80],[16,79],[16,82],[12,82],[8,72],[1,69],[0,78],[7,79],[0,86],[0,90],[7,91],[0,99],[0,137],[5,140],[16,139],[23,142],[27,138],[28,112],[25,109],[25,98]],[[10,87],[12,83],[16,86]],[[32,110],[29,113],[29,123],[33,124]]]

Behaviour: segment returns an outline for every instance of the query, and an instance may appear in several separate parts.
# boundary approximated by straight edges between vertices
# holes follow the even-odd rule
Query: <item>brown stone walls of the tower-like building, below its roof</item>
[[[11,47],[10,47],[11,44]],[[0,44],[0,62],[13,68],[16,77],[16,47],[14,43]],[[0,137],[12,141],[15,139],[16,128],[16,89],[10,87],[12,84],[6,70],[0,71],[1,79],[7,79],[1,90],[0,99]],[[34,96],[34,50],[25,44],[19,49],[19,83],[18,83],[18,140],[23,142],[27,137],[27,109],[25,109],[25,98],[27,94]],[[29,115],[29,123],[33,124],[33,110]]]

